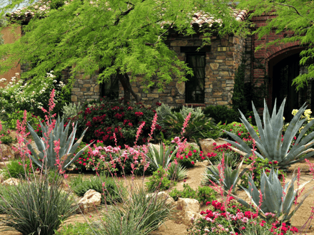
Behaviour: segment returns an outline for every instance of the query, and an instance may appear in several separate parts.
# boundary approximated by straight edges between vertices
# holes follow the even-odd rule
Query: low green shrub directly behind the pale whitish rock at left
[[[126,189],[123,187],[122,182],[118,182],[117,179],[104,175],[88,179],[83,178],[83,175],[79,175],[71,179],[70,186],[79,197],[83,197],[89,189],[100,192],[102,204],[116,204],[116,202],[122,202],[123,197],[126,195]]]

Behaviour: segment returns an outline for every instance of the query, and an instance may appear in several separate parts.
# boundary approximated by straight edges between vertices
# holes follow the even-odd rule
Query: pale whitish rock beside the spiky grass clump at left
[[[101,193],[96,192],[93,189],[89,189],[84,197],[79,200],[78,206],[80,207],[83,213],[93,211],[97,206],[101,204]]]

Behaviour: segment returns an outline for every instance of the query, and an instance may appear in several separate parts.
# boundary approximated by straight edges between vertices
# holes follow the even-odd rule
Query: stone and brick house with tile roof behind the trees
[[[247,11],[234,11],[233,14],[238,21],[247,20]],[[255,31],[271,17],[274,16],[254,17],[251,21],[255,26],[250,30]],[[31,13],[24,17],[24,19],[30,18]],[[194,14],[191,22],[196,28],[211,26],[211,23],[213,19],[201,12]],[[212,36],[211,45],[196,52],[196,49],[201,46],[201,35],[196,34],[192,38],[187,38],[172,32],[168,36],[168,45],[176,51],[178,58],[186,61],[193,68],[193,78],[189,78],[186,83],[178,83],[178,80],[173,78],[163,92],[158,92],[158,88],[153,87],[148,90],[148,93],[144,93],[140,82],[141,77],[137,77],[137,81],[131,84],[132,88],[141,102],[148,106],[153,106],[156,102],[166,103],[173,107],[231,105],[235,75],[242,61],[245,61],[245,82],[265,85],[268,93],[266,100],[270,107],[273,106],[275,98],[278,98],[279,102],[287,98],[285,115],[289,115],[293,108],[299,108],[305,101],[308,104],[314,101],[314,95],[311,95],[312,84],[298,92],[291,86],[293,78],[300,73],[306,73],[306,67],[299,65],[299,53],[304,47],[299,46],[298,43],[280,43],[258,51],[255,51],[255,48],[261,43],[287,37],[291,33],[276,34],[273,31],[260,40],[256,35],[247,38],[236,35],[226,35],[223,38]],[[22,73],[24,67],[22,65],[17,69]],[[69,71],[64,71],[63,76],[64,79],[69,77]],[[117,78],[113,77],[108,83],[101,85],[96,83],[96,79],[97,75],[84,77],[83,73],[78,74],[72,89],[71,100],[75,103],[83,103],[104,95],[111,98],[123,97],[123,88]]]

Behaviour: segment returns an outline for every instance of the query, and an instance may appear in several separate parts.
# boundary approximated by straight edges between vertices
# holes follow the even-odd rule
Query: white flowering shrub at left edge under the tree
[[[41,108],[48,108],[49,94],[53,88],[56,90],[54,112],[61,111],[64,103],[69,102],[69,98],[62,91],[64,83],[58,81],[53,72],[46,73],[46,76],[38,81],[19,80],[19,73],[9,81],[1,78],[0,82],[6,86],[0,88],[0,119],[6,120],[7,114],[16,110],[27,110],[28,113],[43,117]]]

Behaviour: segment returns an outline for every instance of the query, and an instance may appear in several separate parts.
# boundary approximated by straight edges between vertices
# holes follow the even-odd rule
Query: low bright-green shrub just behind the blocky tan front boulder
[[[211,187],[198,187],[197,190],[192,189],[188,184],[183,184],[183,191],[179,191],[178,189],[173,189],[169,193],[171,197],[175,201],[178,201],[179,197],[182,198],[191,198],[196,199],[201,204],[204,204],[208,201],[212,201],[216,199],[217,192],[213,190]]]

